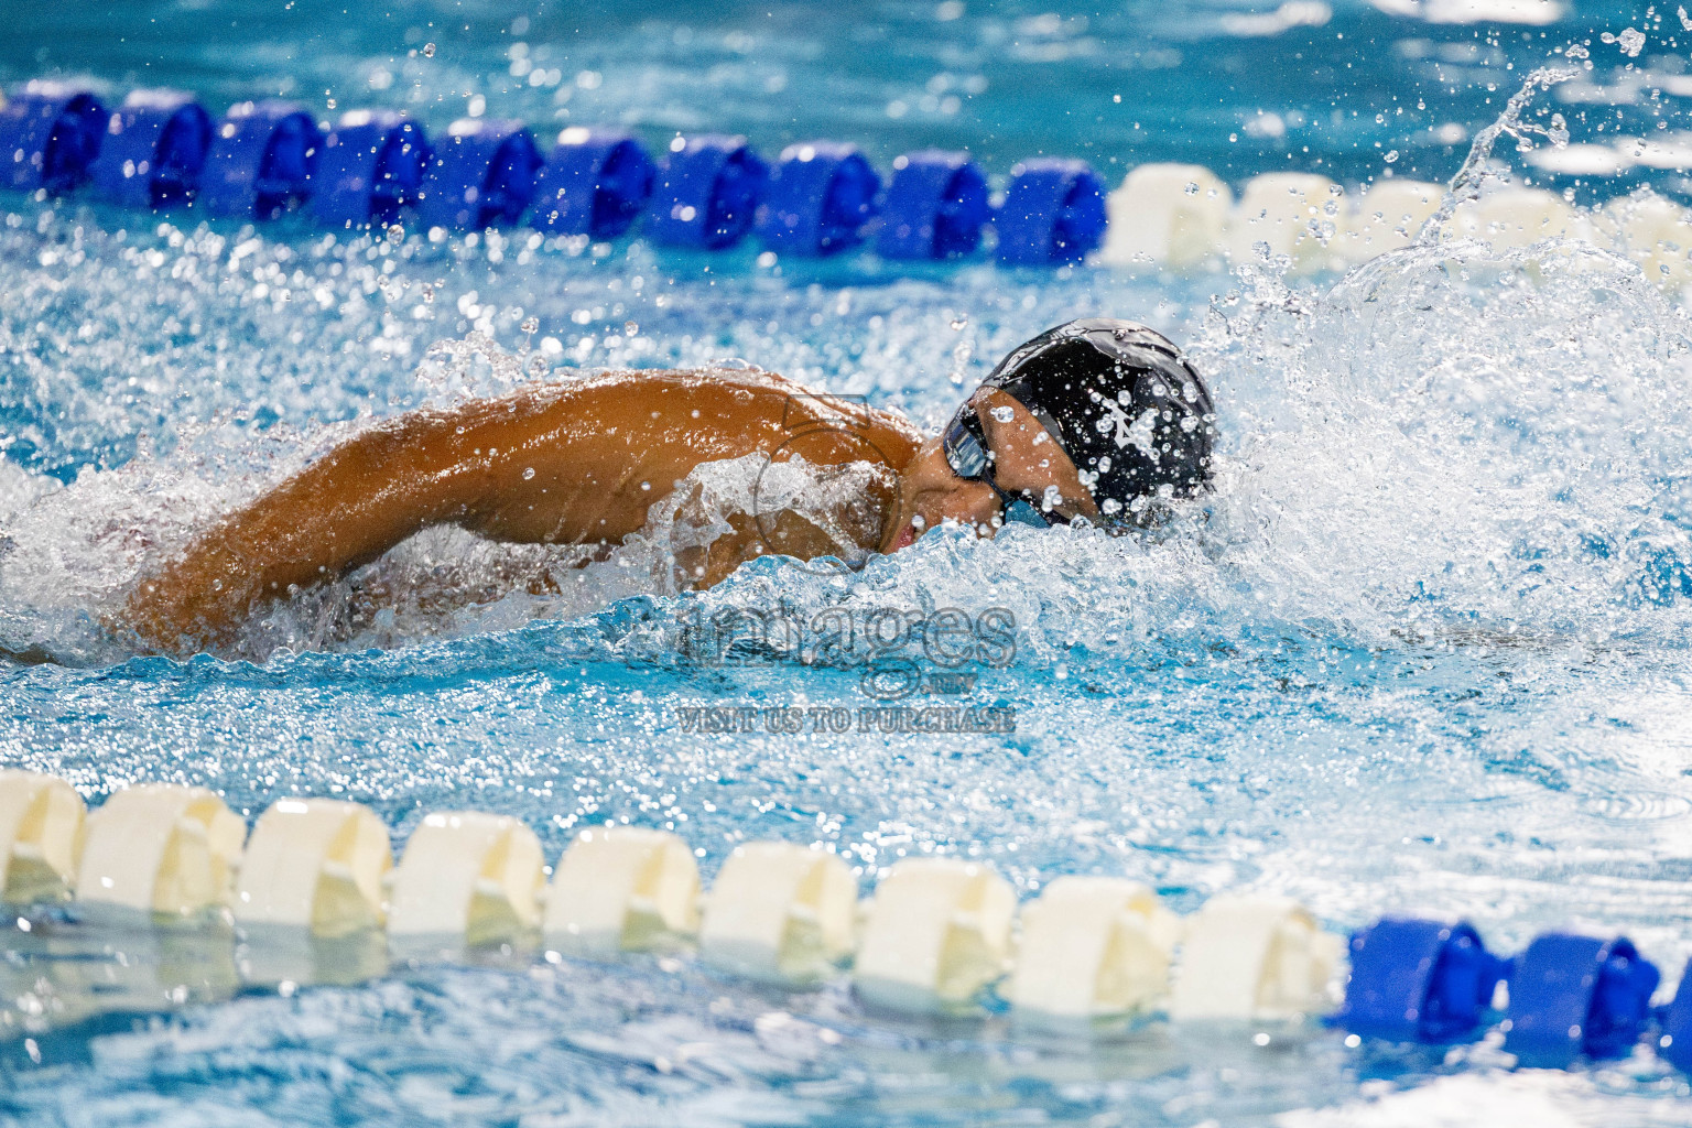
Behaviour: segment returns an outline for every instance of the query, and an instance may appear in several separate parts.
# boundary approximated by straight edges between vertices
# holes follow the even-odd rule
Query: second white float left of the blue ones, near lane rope
[[[1181,920],[1139,881],[1058,878],[1022,908],[1005,998],[1030,1016],[1105,1018],[1169,993]]]

